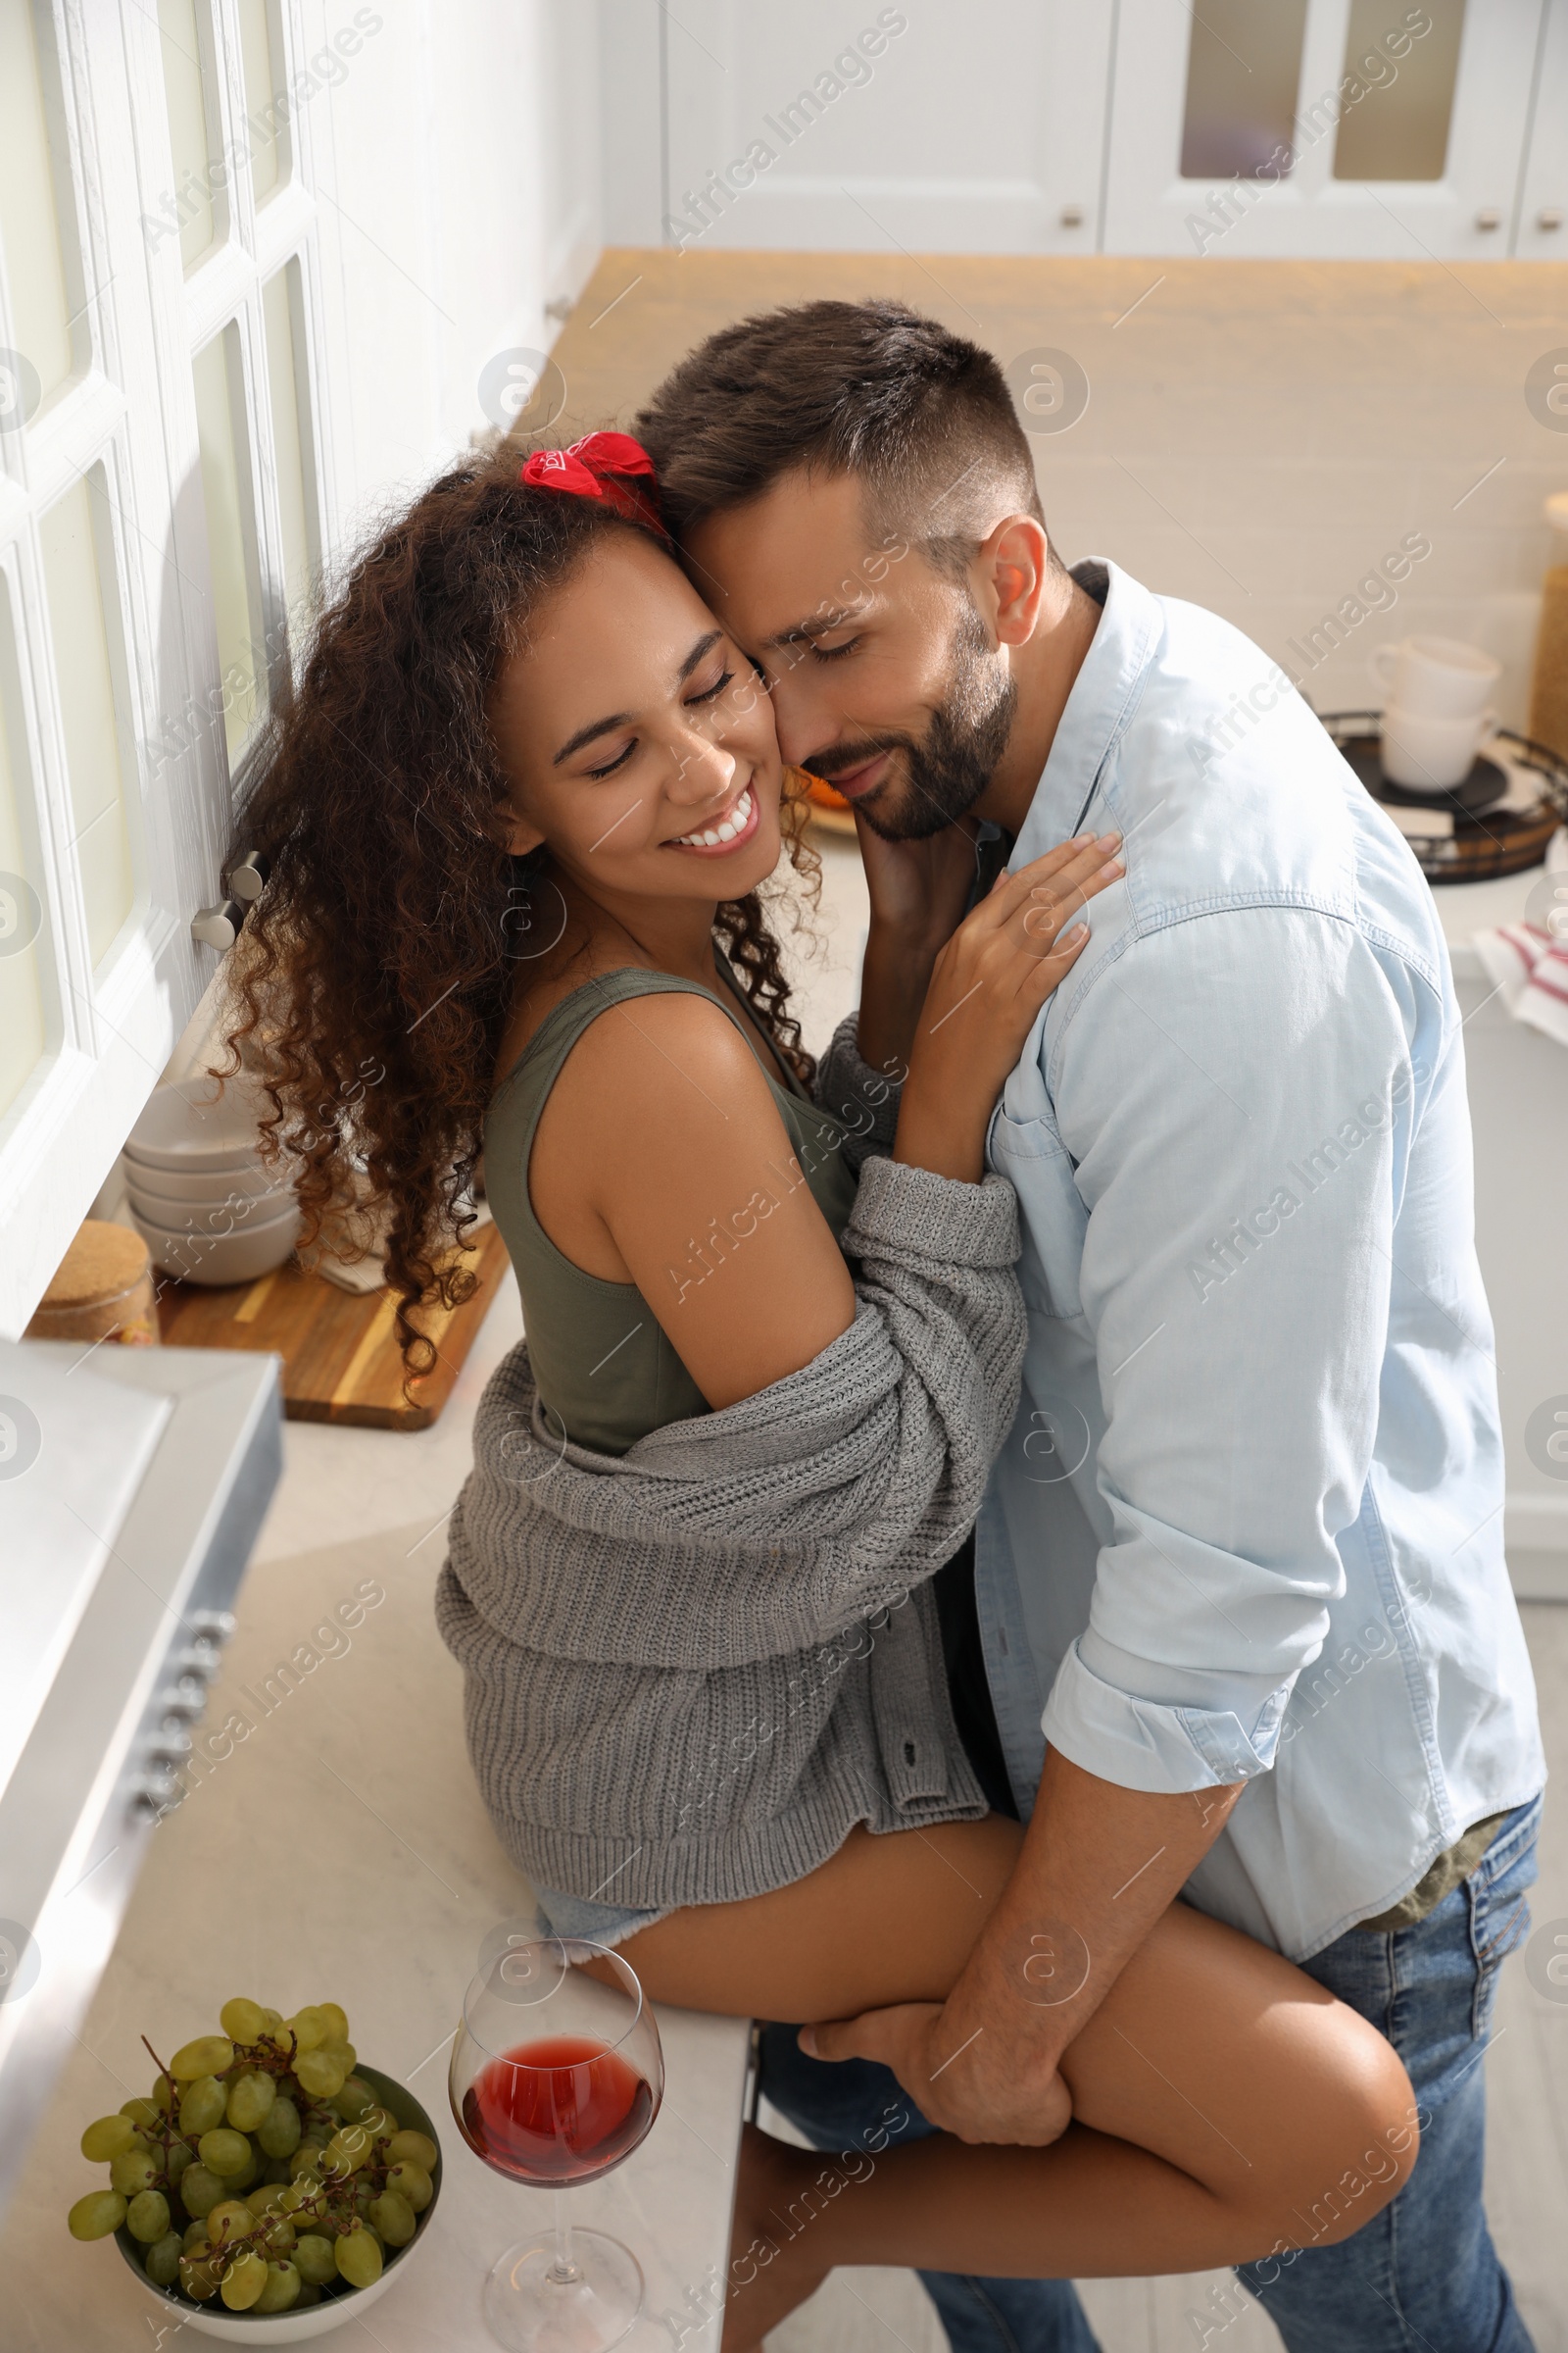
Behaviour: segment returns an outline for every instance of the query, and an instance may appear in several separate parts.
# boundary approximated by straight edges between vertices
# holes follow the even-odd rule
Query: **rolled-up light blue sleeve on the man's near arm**
[[[1044,1732],[1124,1788],[1267,1772],[1328,1633],[1427,1012],[1354,925],[1267,906],[1135,939],[1046,1026],[1067,1160],[1009,1174],[1056,1311],[1093,1341],[1105,1431],[1081,1475],[1114,1534]],[[1063,1181],[1086,1212],[1077,1299],[1048,1273]]]

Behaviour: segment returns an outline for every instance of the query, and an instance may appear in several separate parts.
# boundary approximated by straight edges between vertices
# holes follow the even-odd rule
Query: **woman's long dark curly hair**
[[[244,1066],[270,1096],[263,1132],[296,1174],[306,1242],[334,1212],[386,1219],[411,1379],[435,1365],[411,1311],[473,1294],[454,1245],[527,925],[496,826],[489,692],[538,600],[632,529],[609,504],[520,482],[515,456],[454,466],[322,614],[240,819],[268,880],[235,948],[223,1075]],[[816,882],[797,826],[785,842]],[[719,906],[715,936],[809,1085],[762,896]]]

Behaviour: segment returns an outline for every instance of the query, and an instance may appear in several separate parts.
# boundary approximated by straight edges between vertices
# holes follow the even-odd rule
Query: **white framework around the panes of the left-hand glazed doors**
[[[0,1118],[2,1334],[26,1325],[214,974],[212,951],[190,939],[190,918],[216,896],[259,746],[252,739],[230,776],[190,365],[212,336],[235,327],[268,685],[277,696],[287,692],[292,645],[287,624],[273,626],[284,621],[284,565],[261,296],[292,261],[301,285],[294,344],[313,548],[334,544],[310,108],[289,108],[280,184],[259,209],[249,169],[230,174],[214,247],[186,278],[179,233],[148,228],[174,186],[155,7],[9,5],[33,7],[68,296],[80,315],[71,379],[21,433],[0,435],[0,626],[12,640],[0,645],[0,694],[45,908],[38,958],[47,1021],[45,1054]],[[235,0],[195,0],[195,14],[207,136],[221,160],[235,153],[244,118],[240,16]],[[306,54],[301,0],[270,0],[270,47],[287,92]],[[0,252],[0,346],[14,344]],[[71,842],[38,553],[40,518],[89,468],[101,468],[108,492],[94,499],[94,522],[103,527],[106,602],[113,598],[110,656],[115,624],[125,649],[118,704],[134,871],[132,913],[96,969]],[[169,753],[172,729],[181,748]]]

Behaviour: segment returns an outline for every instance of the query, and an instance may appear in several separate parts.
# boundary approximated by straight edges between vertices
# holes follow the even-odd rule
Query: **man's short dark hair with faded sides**
[[[872,536],[900,532],[954,579],[997,492],[1044,522],[994,358],[900,301],[790,304],[710,334],[658,386],[637,435],[677,534],[802,466],[858,475]]]

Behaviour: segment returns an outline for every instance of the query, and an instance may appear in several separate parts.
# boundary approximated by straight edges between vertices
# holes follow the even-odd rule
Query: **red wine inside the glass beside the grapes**
[[[512,2181],[597,2181],[654,2122],[654,2087],[590,2035],[541,2035],[480,2068],[463,2139]]]

